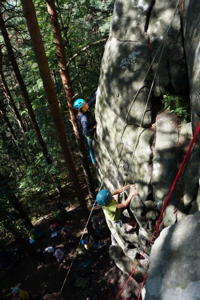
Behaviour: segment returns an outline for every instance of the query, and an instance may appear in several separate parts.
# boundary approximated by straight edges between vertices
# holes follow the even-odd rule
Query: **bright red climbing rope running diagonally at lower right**
[[[170,195],[171,195],[171,192],[172,192],[172,190],[173,190],[173,188],[174,188],[174,186],[175,186],[175,183],[176,183],[176,181],[177,181],[177,179],[178,179],[178,176],[180,175],[180,172],[181,172],[181,170],[182,170],[182,168],[183,168],[183,165],[185,164],[185,162],[186,162],[186,160],[187,160],[187,158],[188,158],[188,156],[189,156],[189,153],[190,153],[190,151],[191,151],[191,149],[192,149],[192,146],[193,146],[193,144],[194,144],[194,141],[195,141],[195,139],[196,139],[196,137],[197,137],[197,134],[198,134],[199,130],[200,130],[200,121],[198,122],[198,125],[197,125],[196,130],[195,130],[194,135],[193,135],[193,138],[192,138],[192,140],[191,140],[191,142],[190,142],[190,145],[189,145],[189,147],[188,147],[188,150],[187,150],[187,152],[186,152],[186,155],[184,156],[184,159],[183,159],[183,161],[182,161],[182,163],[181,163],[181,165],[180,165],[180,167],[179,167],[179,170],[178,170],[178,172],[177,172],[177,174],[176,174],[176,176],[175,176],[175,179],[174,179],[174,181],[173,181],[173,184],[171,185],[171,188],[170,188],[170,190],[169,190],[168,196],[166,197],[166,200],[164,201],[164,205],[163,205],[162,210],[161,210],[161,212],[160,212],[160,216],[159,216],[159,218],[158,218],[158,220],[157,220],[157,223],[156,223],[155,227],[153,228],[153,231],[152,231],[152,233],[151,233],[151,235],[150,235],[150,238],[149,238],[149,240],[148,240],[148,242],[147,242],[147,244],[146,244],[146,246],[145,246],[145,248],[144,248],[144,250],[143,250],[143,252],[142,252],[142,254],[141,254],[141,256],[140,256],[140,258],[139,258],[139,260],[138,260],[138,262],[137,262],[137,264],[135,265],[134,269],[132,270],[132,273],[130,274],[130,276],[128,277],[127,281],[125,282],[125,284],[123,285],[123,287],[121,288],[121,290],[119,291],[118,295],[116,296],[116,298],[115,298],[114,300],[116,300],[116,299],[118,298],[118,296],[120,295],[120,293],[122,292],[122,290],[124,289],[124,287],[126,286],[126,284],[128,283],[128,281],[130,280],[130,277],[131,277],[132,274],[134,273],[134,271],[135,271],[137,265],[139,264],[139,261],[141,260],[142,255],[144,254],[144,252],[145,252],[145,250],[146,250],[146,248],[147,248],[147,246],[148,246],[148,244],[149,244],[149,242],[150,242],[150,240],[151,240],[151,237],[152,237],[152,235],[153,235],[153,233],[154,233],[156,227],[157,227],[157,231],[156,231],[156,236],[155,236],[155,238],[157,238],[157,235],[158,235],[158,232],[159,232],[159,224],[160,224],[160,220],[161,220],[163,211],[164,211],[164,209],[165,209],[165,207],[166,207],[166,204],[167,204],[168,199],[169,199],[169,197],[170,197]],[[148,269],[148,267],[147,267],[147,269]],[[144,284],[144,282],[145,282],[146,276],[147,276],[147,270],[146,270],[146,273],[145,273],[145,276],[144,276],[144,279],[143,279],[143,282],[142,282],[142,286],[143,286],[143,284]],[[142,287],[141,287],[141,288],[142,288]],[[141,292],[141,289],[140,289],[140,292]],[[140,292],[139,292],[139,296],[140,296]],[[138,299],[139,299],[139,296],[138,296]]]

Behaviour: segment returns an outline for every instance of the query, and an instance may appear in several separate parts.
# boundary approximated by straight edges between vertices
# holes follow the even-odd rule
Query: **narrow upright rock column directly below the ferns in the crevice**
[[[152,186],[155,203],[160,211],[178,171],[178,128],[174,126],[175,121],[175,115],[167,112],[160,113],[156,119]],[[168,225],[174,223],[176,220],[174,213],[176,201],[177,191],[175,188],[163,214],[164,221]]]

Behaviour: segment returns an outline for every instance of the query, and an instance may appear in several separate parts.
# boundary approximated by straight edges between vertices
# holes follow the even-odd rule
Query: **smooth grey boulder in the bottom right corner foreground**
[[[150,253],[145,300],[199,299],[200,211],[164,228]]]

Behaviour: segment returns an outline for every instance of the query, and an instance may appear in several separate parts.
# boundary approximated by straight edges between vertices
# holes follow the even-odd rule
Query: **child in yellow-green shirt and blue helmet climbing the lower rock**
[[[131,191],[124,203],[117,203],[117,200],[113,197],[113,195],[119,196],[119,194],[128,187],[135,188],[135,184],[125,185],[114,191],[101,189],[96,195],[96,203],[103,206],[104,212],[111,222],[128,224],[124,229],[125,233],[135,233],[135,226],[137,224],[136,219],[134,217],[125,216],[122,211],[130,204],[132,196],[138,195],[138,192],[136,190]]]

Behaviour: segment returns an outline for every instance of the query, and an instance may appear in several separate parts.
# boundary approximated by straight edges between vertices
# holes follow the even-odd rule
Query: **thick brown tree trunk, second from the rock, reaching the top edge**
[[[28,31],[30,34],[32,47],[37,59],[40,76],[43,82],[44,90],[46,93],[46,97],[48,100],[49,108],[51,111],[51,115],[54,120],[55,128],[57,131],[59,143],[64,155],[64,159],[68,168],[68,172],[73,183],[73,188],[75,190],[76,196],[78,198],[78,202],[82,209],[85,221],[87,221],[89,217],[89,211],[84,199],[83,191],[81,189],[78,176],[76,173],[76,168],[73,162],[72,154],[69,149],[68,141],[65,134],[64,124],[61,119],[61,112],[59,109],[58,101],[56,98],[53,81],[50,75],[50,69],[48,66],[48,61],[46,57],[46,53],[44,50],[44,45],[41,39],[41,34],[39,31],[39,26],[34,10],[34,5],[32,0],[21,0],[23,14],[25,16]],[[88,220],[87,223],[87,231],[88,234],[95,236],[91,220]]]

